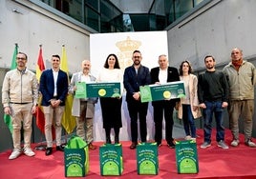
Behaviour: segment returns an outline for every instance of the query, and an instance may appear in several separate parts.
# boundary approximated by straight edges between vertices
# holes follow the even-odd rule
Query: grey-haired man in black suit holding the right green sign
[[[151,70],[151,82],[152,84],[164,84],[167,82],[180,81],[179,72],[176,68],[168,67],[168,59],[166,55],[161,54],[159,56],[160,67]],[[169,99],[161,101],[153,101],[154,109],[154,122],[155,122],[155,142],[158,146],[161,146],[162,139],[162,117],[164,113],[165,119],[165,139],[169,148],[174,148],[173,142],[173,109],[180,99]]]

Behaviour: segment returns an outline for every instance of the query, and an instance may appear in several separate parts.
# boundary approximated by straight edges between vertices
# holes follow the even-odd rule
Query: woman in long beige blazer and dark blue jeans
[[[181,98],[178,117],[183,121],[185,139],[196,141],[195,119],[202,116],[198,100],[198,78],[192,74],[192,67],[188,61],[181,62],[180,79],[184,82],[185,97]]]

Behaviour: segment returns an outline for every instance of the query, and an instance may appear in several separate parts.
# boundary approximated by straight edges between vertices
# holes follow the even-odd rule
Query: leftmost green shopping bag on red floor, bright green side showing
[[[72,136],[64,149],[65,176],[85,176],[89,172],[87,143],[78,136]]]

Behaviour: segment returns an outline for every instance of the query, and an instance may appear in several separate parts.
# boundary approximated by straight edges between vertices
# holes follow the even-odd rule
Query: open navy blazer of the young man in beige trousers
[[[63,70],[58,71],[57,76],[57,96],[56,99],[61,101],[60,106],[65,106],[65,99],[68,94],[68,75]],[[40,92],[42,93],[42,106],[50,106],[50,100],[53,99],[54,79],[53,70],[44,70],[40,77]]]

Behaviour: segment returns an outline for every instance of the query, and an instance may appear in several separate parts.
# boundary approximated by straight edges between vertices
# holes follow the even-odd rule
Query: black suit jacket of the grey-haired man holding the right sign
[[[155,84],[156,82],[160,82],[159,78],[160,74],[160,68],[154,68],[150,71],[150,76],[151,76],[151,84]],[[179,72],[176,68],[173,67],[168,67],[167,69],[167,82],[175,82],[175,81],[180,81],[180,75]],[[178,102],[180,99],[172,99],[172,102]],[[158,104],[158,101],[153,101],[152,105]]]

